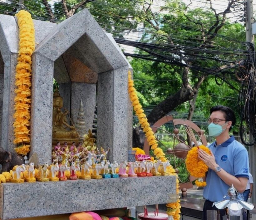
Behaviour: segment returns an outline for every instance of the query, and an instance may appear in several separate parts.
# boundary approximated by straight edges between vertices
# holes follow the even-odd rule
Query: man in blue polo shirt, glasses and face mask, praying
[[[206,199],[203,209],[203,220],[207,210],[217,210],[212,204],[223,199],[233,184],[239,193],[243,193],[249,178],[249,159],[245,147],[229,136],[229,130],[235,125],[236,119],[232,109],[217,105],[210,109],[208,119],[209,135],[216,141],[208,147],[211,155],[198,150],[198,157],[209,167],[203,196]],[[220,210],[221,220],[225,215]]]

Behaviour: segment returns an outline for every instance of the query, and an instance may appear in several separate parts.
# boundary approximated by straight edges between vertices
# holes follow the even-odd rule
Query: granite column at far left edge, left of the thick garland
[[[10,59],[4,63],[4,86],[2,104],[2,148],[14,152],[13,114],[15,97],[15,68],[17,54],[11,53]]]

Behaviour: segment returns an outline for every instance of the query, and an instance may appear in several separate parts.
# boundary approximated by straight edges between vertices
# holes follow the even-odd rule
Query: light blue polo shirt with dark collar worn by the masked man
[[[213,152],[216,163],[226,172],[235,177],[249,178],[248,152],[234,136],[218,146],[215,141],[208,148]],[[230,188],[212,169],[208,170],[206,183],[203,196],[211,202],[222,200]]]

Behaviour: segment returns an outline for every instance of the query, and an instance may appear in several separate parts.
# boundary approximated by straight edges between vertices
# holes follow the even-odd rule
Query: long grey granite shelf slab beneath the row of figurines
[[[175,176],[1,183],[0,218],[169,203],[175,193]]]

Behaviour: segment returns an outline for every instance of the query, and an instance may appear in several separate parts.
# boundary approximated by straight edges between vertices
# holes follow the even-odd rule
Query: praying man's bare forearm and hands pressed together
[[[199,159],[201,159],[202,161],[204,161],[204,163],[212,170],[215,171],[215,167],[219,166],[218,164],[216,164],[215,162],[215,158],[214,158],[214,154],[212,153],[212,151],[210,151],[211,155],[207,154],[204,150],[199,149],[198,150],[198,157]],[[226,183],[227,185],[231,186],[233,184],[234,188],[236,188],[236,190],[239,193],[243,193],[246,185],[247,185],[247,181],[248,179],[246,177],[235,177],[231,174],[229,174],[228,172],[226,172],[224,169],[221,169],[219,172],[216,173],[219,178],[221,178],[224,183]]]

